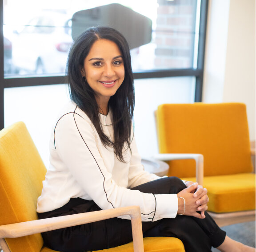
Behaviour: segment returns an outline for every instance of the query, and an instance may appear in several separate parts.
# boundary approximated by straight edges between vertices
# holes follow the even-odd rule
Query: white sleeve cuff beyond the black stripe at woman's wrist
[[[178,211],[177,194],[155,194],[156,214],[153,221],[175,218]]]

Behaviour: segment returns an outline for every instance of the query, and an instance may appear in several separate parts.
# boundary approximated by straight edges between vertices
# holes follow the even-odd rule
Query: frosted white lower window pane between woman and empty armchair
[[[137,79],[135,86],[134,132],[140,155],[158,153],[154,111],[164,103],[193,103],[195,78],[167,77]]]

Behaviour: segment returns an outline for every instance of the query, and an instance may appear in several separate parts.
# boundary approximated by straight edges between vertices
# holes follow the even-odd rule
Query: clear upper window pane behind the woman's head
[[[109,15],[113,3],[122,8]],[[105,6],[109,12],[99,14]],[[76,23],[72,17],[81,10],[90,15],[80,20],[80,29],[113,24],[127,34],[134,72],[195,67],[199,6],[200,0],[6,0],[4,74],[63,75]]]

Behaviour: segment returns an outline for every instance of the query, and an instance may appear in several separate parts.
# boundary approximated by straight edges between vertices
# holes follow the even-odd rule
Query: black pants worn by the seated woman
[[[141,184],[133,190],[146,193],[178,193],[186,188],[176,177],[162,178]],[[71,199],[63,207],[38,213],[40,219],[101,210],[94,201]],[[210,252],[223,243],[226,233],[208,213],[205,219],[177,215],[174,219],[142,222],[143,236],[168,236],[182,240],[186,252]],[[42,233],[47,247],[64,252],[83,252],[112,248],[132,241],[131,221],[120,218],[97,221],[76,227]]]

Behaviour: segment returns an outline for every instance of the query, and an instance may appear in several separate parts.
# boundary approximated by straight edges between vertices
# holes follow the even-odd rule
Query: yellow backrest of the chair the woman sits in
[[[36,220],[36,201],[46,173],[23,122],[0,131],[0,225]],[[40,234],[6,239],[11,251],[39,252]]]

